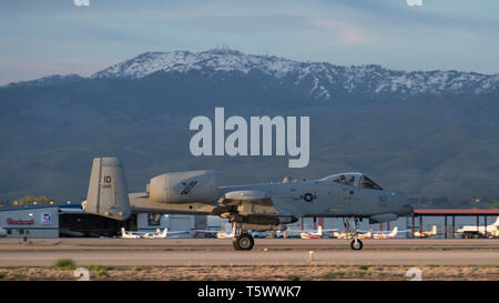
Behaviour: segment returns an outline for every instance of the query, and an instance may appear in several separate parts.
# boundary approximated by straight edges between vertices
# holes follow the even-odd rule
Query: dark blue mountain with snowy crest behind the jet
[[[116,155],[132,190],[165,171],[225,184],[361,171],[409,198],[499,196],[499,75],[304,63],[234,50],[150,52],[90,78],[0,88],[0,200],[84,198],[93,156]],[[195,158],[190,120],[310,115],[310,163]]]

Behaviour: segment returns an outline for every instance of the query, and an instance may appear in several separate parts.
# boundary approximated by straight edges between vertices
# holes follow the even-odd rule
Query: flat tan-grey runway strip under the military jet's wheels
[[[499,240],[256,239],[253,251],[234,251],[220,239],[0,239],[0,266],[50,266],[59,259],[110,266],[185,265],[499,265]]]

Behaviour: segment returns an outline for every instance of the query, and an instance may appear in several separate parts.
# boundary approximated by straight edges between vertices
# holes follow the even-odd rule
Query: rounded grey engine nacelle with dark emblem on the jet
[[[218,199],[217,172],[170,172],[151,179],[149,199],[161,203],[213,202]]]

